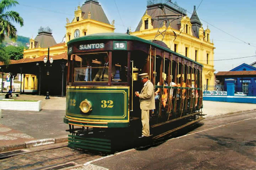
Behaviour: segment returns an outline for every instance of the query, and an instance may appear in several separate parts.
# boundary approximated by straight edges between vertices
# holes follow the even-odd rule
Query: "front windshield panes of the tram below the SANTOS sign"
[[[127,63],[127,57],[123,57],[121,60],[126,61],[121,62],[113,53],[111,69],[109,68],[110,58],[107,53],[76,55],[76,57],[79,58],[80,62],[77,62],[74,68],[75,82],[107,82],[109,71],[112,82],[127,81],[127,64],[125,64]]]

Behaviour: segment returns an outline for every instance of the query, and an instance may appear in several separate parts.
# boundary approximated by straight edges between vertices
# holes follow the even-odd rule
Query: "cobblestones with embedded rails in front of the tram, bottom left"
[[[29,149],[26,150],[29,151]],[[64,146],[42,151],[33,151],[30,153],[24,153],[10,158],[2,159],[0,160],[0,169],[29,170],[52,165],[56,166],[57,164],[63,164],[70,161],[78,164],[80,161],[87,162],[101,157],[101,155],[86,154]]]

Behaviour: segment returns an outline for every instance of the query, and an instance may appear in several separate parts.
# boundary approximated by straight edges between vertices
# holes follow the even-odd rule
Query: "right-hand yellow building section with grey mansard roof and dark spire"
[[[186,15],[186,10],[168,1],[148,1],[135,32],[130,34],[146,40],[159,40],[168,47],[203,64],[202,84],[214,85],[214,44],[210,41],[210,29],[203,29],[196,13]],[[168,15],[163,17],[163,15]]]

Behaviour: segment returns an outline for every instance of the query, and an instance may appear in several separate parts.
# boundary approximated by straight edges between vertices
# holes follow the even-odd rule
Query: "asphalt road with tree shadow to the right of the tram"
[[[208,118],[202,125],[159,145],[111,155],[81,169],[256,169],[256,112]]]

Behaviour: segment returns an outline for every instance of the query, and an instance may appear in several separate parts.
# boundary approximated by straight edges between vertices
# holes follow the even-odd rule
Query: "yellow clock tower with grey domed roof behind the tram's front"
[[[89,34],[112,33],[115,30],[98,0],[86,0],[81,7],[76,8],[73,20],[70,22],[67,18],[66,21],[66,42]]]

